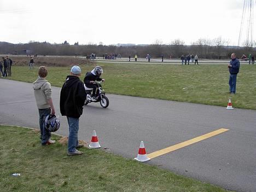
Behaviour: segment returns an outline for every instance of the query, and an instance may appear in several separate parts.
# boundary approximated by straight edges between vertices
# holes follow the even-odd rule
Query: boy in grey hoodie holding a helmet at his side
[[[46,130],[44,126],[46,115],[55,114],[53,100],[51,99],[51,84],[45,79],[47,74],[48,71],[46,67],[40,66],[38,69],[39,77],[33,83],[34,97],[36,98],[39,111],[40,139],[43,146],[56,142],[50,139],[51,132]]]

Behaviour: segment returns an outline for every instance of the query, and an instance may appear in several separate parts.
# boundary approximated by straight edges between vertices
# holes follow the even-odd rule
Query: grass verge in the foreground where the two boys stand
[[[83,148],[83,155],[67,156],[67,147],[60,143],[41,146],[39,133],[31,129],[0,126],[0,139],[0,191],[4,192],[225,191],[98,149]]]

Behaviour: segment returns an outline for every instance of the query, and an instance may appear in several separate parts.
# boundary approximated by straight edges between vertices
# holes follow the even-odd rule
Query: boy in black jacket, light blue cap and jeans
[[[82,155],[77,150],[83,147],[78,143],[79,118],[83,114],[83,106],[86,99],[84,83],[79,79],[81,69],[78,66],[71,68],[70,75],[61,88],[60,111],[62,116],[67,116],[69,135],[67,155]]]

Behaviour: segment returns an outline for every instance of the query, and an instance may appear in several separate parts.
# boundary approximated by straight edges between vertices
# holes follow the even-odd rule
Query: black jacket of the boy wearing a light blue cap
[[[60,111],[62,116],[79,118],[83,114],[86,92],[79,77],[68,75],[61,88]]]

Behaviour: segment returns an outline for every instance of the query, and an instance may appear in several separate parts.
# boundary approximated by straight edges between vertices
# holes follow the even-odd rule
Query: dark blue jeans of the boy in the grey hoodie
[[[38,109],[39,111],[39,126],[40,126],[40,139],[42,145],[45,145],[46,142],[51,137],[51,132],[45,129],[44,123],[45,123],[45,117],[46,115],[51,113],[51,108],[47,109]]]

